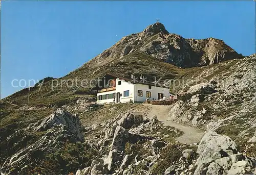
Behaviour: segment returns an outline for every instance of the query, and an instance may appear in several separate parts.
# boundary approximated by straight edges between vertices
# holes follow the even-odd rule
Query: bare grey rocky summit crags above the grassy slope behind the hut
[[[88,62],[87,66],[108,63],[136,51],[178,67],[211,65],[243,57],[222,40],[185,39],[180,35],[169,33],[162,23],[156,22],[140,33],[123,37]]]

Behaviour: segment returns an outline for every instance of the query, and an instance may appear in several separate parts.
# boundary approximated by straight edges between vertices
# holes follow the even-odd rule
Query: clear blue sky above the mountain
[[[255,53],[253,1],[2,1],[1,6],[1,98],[22,89],[12,87],[12,80],[65,76],[157,18],[170,33],[214,37],[245,56]]]

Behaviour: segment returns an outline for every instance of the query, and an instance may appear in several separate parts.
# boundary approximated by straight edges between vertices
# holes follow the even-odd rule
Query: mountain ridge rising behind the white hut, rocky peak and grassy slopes
[[[205,47],[208,43],[211,43],[208,45],[209,47]],[[202,48],[205,48],[205,51],[200,50]],[[197,53],[199,53],[199,55]],[[199,58],[200,54],[202,59]],[[231,56],[226,58],[226,55],[228,54]],[[214,59],[209,60],[208,55],[212,58],[214,57]],[[175,57],[175,59],[172,61],[173,57]],[[200,66],[207,66],[211,65],[210,63],[215,64],[229,59],[240,59],[242,57],[243,56],[237,54],[236,51],[226,45],[222,40],[214,38],[199,40],[185,39],[180,35],[169,33],[162,23],[156,22],[147,26],[142,32],[124,36],[116,44],[105,49],[98,56],[94,57],[87,63],[84,63],[81,67],[71,71],[66,76],[57,78],[56,80],[76,78],[91,80],[103,76],[105,73],[111,72],[114,72],[119,76],[143,74],[148,78],[148,80],[153,80],[153,77],[174,79],[176,76],[173,72],[179,69],[179,67],[190,67],[193,69],[193,67],[199,66],[200,59],[204,63],[200,64]],[[193,62],[190,62],[190,58],[196,59]],[[160,64],[158,61],[168,63],[168,65]],[[123,64],[122,62],[125,63]],[[140,62],[143,62],[144,65]],[[182,66],[183,63],[186,64]],[[191,67],[192,65],[193,67]],[[51,92],[50,82],[46,82],[44,86],[48,88],[43,90],[43,92],[53,94],[53,92]],[[33,88],[31,87],[31,89]],[[62,93],[75,93],[77,90],[80,90],[80,88],[73,87],[59,89]],[[38,97],[39,95],[42,98],[47,98],[47,96],[43,95],[42,92],[37,90],[35,92],[37,94],[35,97]],[[23,96],[23,100],[20,102],[25,103],[28,98],[27,94],[28,88],[25,88],[15,92],[13,95],[16,97],[18,96],[18,98]],[[6,99],[11,99],[13,95],[3,98],[2,101],[5,102]],[[33,99],[33,93],[31,95]],[[11,99],[11,101],[13,101],[13,99]]]

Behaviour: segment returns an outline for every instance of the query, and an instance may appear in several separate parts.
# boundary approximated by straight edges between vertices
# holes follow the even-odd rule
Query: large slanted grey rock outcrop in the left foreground
[[[18,152],[8,158],[2,166],[2,171],[8,173],[9,170],[22,173],[23,169],[34,162],[34,159],[41,159],[42,155],[49,151],[56,151],[62,147],[62,143],[69,140],[71,142],[83,141],[82,127],[77,115],[57,109],[57,111],[46,117],[42,122],[31,124],[27,129],[16,131],[7,138],[13,142],[17,137],[28,137],[31,129],[45,131],[46,134],[40,137],[35,143],[19,149]],[[20,140],[22,142],[23,140]],[[16,142],[16,144],[20,144]]]

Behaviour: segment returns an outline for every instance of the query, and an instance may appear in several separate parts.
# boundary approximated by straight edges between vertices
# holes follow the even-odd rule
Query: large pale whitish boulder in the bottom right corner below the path
[[[197,153],[199,158],[194,174],[244,174],[255,169],[255,159],[238,153],[236,143],[215,132],[204,135]]]

